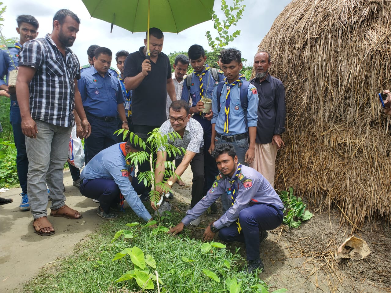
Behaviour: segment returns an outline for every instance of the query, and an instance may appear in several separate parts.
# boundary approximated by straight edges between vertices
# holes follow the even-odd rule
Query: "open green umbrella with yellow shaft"
[[[181,32],[212,19],[214,0],[82,0],[91,17],[131,32],[148,32],[157,27],[163,32]]]

